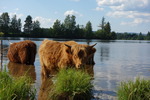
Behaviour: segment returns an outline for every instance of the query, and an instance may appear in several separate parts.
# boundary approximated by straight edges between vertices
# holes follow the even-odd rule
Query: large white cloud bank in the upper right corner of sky
[[[126,18],[131,22],[122,22],[121,25],[138,25],[150,22],[150,0],[96,0],[98,7],[109,7],[107,16]]]

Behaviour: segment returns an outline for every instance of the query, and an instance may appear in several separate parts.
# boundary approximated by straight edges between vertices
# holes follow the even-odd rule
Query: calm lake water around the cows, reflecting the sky
[[[18,42],[28,38],[9,38],[11,42]],[[33,39],[37,46],[41,44],[43,38]],[[66,41],[65,39],[51,39],[57,41]],[[150,41],[138,40],[116,40],[116,41],[100,41],[100,40],[75,40],[80,44],[97,43],[97,49],[94,57],[95,65],[94,74],[94,96],[103,100],[116,100],[116,89],[120,81],[134,80],[140,76],[150,79]],[[8,47],[8,40],[3,41],[4,47]],[[14,65],[9,63],[6,57],[7,51],[4,51],[3,64],[8,64],[10,73],[17,76],[24,70],[30,69],[30,75],[35,80],[35,87],[40,90],[41,85],[41,68],[39,56],[36,55],[34,66]],[[21,67],[19,67],[21,66]],[[25,68],[26,67],[26,68]],[[16,70],[15,70],[16,69]],[[18,70],[17,70],[18,69]],[[41,92],[41,91],[40,91]],[[38,93],[40,93],[38,92]],[[37,93],[37,96],[38,96]]]

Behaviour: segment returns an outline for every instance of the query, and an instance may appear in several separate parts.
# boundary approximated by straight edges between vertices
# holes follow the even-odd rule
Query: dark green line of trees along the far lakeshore
[[[71,39],[101,39],[101,40],[150,40],[150,32],[116,33],[111,31],[110,22],[102,17],[98,30],[93,31],[92,23],[86,25],[76,23],[76,16],[67,15],[63,22],[57,19],[50,28],[41,28],[38,20],[33,21],[28,15],[22,25],[21,19],[14,15],[10,18],[7,12],[0,15],[0,37],[33,37],[33,38],[71,38]]]

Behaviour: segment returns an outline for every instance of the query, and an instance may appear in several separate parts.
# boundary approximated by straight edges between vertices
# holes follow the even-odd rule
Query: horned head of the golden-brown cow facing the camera
[[[76,44],[72,46],[67,44],[65,45],[71,50],[72,60],[76,68],[80,68],[81,66],[86,64],[88,59],[92,57],[91,55],[93,55],[96,51],[96,49],[94,48],[96,44],[91,46],[83,44]]]

